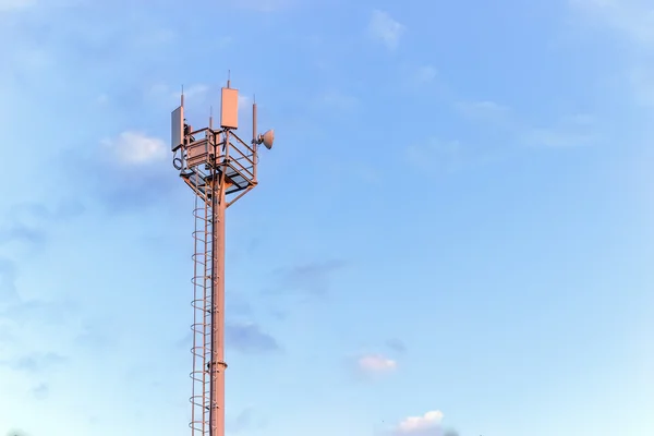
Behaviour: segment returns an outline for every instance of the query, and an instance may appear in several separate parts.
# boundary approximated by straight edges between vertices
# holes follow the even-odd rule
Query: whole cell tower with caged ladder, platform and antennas
[[[239,92],[222,88],[220,128],[198,130],[184,119],[184,94],[172,112],[173,166],[195,194],[193,274],[192,436],[225,435],[225,213],[257,185],[258,146],[270,149],[275,132],[257,134],[252,105],[252,141],[241,140]]]

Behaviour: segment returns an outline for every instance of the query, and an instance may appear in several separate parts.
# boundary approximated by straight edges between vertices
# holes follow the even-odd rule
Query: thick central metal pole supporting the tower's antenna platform
[[[225,436],[225,191],[226,165],[229,147],[229,131],[225,132],[225,155],[216,147],[215,168],[220,168],[220,179],[214,177],[214,241],[211,266],[211,410],[209,412],[210,436]],[[215,173],[215,175],[217,175]]]

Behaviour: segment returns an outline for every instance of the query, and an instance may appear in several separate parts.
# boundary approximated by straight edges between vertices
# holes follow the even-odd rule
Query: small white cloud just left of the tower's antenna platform
[[[161,160],[168,153],[164,141],[132,131],[123,132],[114,140],[106,140],[102,145],[124,165],[144,165]]]

